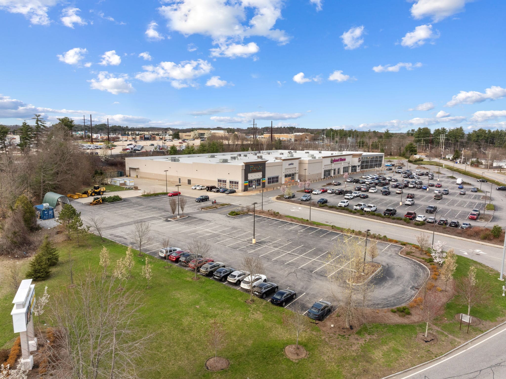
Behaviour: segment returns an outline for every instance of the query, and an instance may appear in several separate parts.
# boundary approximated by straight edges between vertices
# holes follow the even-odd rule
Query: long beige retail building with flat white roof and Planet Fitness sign
[[[383,167],[383,153],[268,150],[125,158],[126,175],[184,185],[215,185],[238,192],[332,178]]]

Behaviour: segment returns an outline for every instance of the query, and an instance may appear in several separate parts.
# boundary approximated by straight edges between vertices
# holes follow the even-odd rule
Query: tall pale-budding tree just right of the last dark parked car
[[[331,262],[326,265],[330,290],[347,328],[360,316],[358,309],[366,305],[374,289],[370,280],[353,284],[362,281],[363,254],[362,246],[348,239],[339,247],[334,246],[327,256]]]

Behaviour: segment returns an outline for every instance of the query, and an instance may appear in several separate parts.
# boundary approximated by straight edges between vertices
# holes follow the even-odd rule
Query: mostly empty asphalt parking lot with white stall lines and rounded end
[[[153,239],[142,250],[153,257],[158,257],[158,250],[163,247],[162,241],[166,237],[171,239],[171,245],[183,249],[189,248],[194,238],[203,239],[210,245],[210,258],[236,269],[241,268],[245,254],[261,257],[268,281],[277,283],[280,289],[295,290],[298,295],[295,302],[304,309],[321,299],[332,302],[327,276],[348,269],[346,264],[338,266],[330,262],[328,251],[339,249],[344,240],[352,239],[360,245],[365,243],[364,238],[338,231],[256,216],[257,243],[253,244],[252,215],[231,218],[226,213],[233,205],[226,207],[228,209],[206,212],[199,210],[203,205],[206,204],[188,198],[185,214],[191,215],[177,221],[168,220],[172,212],[169,212],[167,196],[134,197],[100,207],[79,204],[78,210],[84,218],[92,213],[107,218],[104,237],[134,248],[138,248],[132,239],[134,225],[150,223]],[[400,256],[398,252],[402,246],[386,242],[377,244],[380,255],[375,261],[381,263],[384,270],[381,277],[374,279],[374,294],[368,305],[384,308],[408,303],[427,277],[426,269]],[[224,285],[238,288],[227,282]],[[292,308],[295,302],[286,307]]]

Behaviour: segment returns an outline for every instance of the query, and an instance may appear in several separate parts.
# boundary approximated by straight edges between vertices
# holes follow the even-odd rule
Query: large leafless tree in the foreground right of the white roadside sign
[[[55,377],[138,378],[138,361],[153,337],[138,326],[139,295],[118,291],[114,277],[89,270],[78,283],[52,296],[50,319],[61,343],[49,345],[58,357],[49,370]]]

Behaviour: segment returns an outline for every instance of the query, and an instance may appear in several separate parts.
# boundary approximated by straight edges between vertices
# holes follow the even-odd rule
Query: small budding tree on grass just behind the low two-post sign
[[[457,280],[457,303],[468,307],[468,316],[471,307],[486,305],[490,300],[490,285],[476,278],[476,267],[471,266],[467,276]]]

